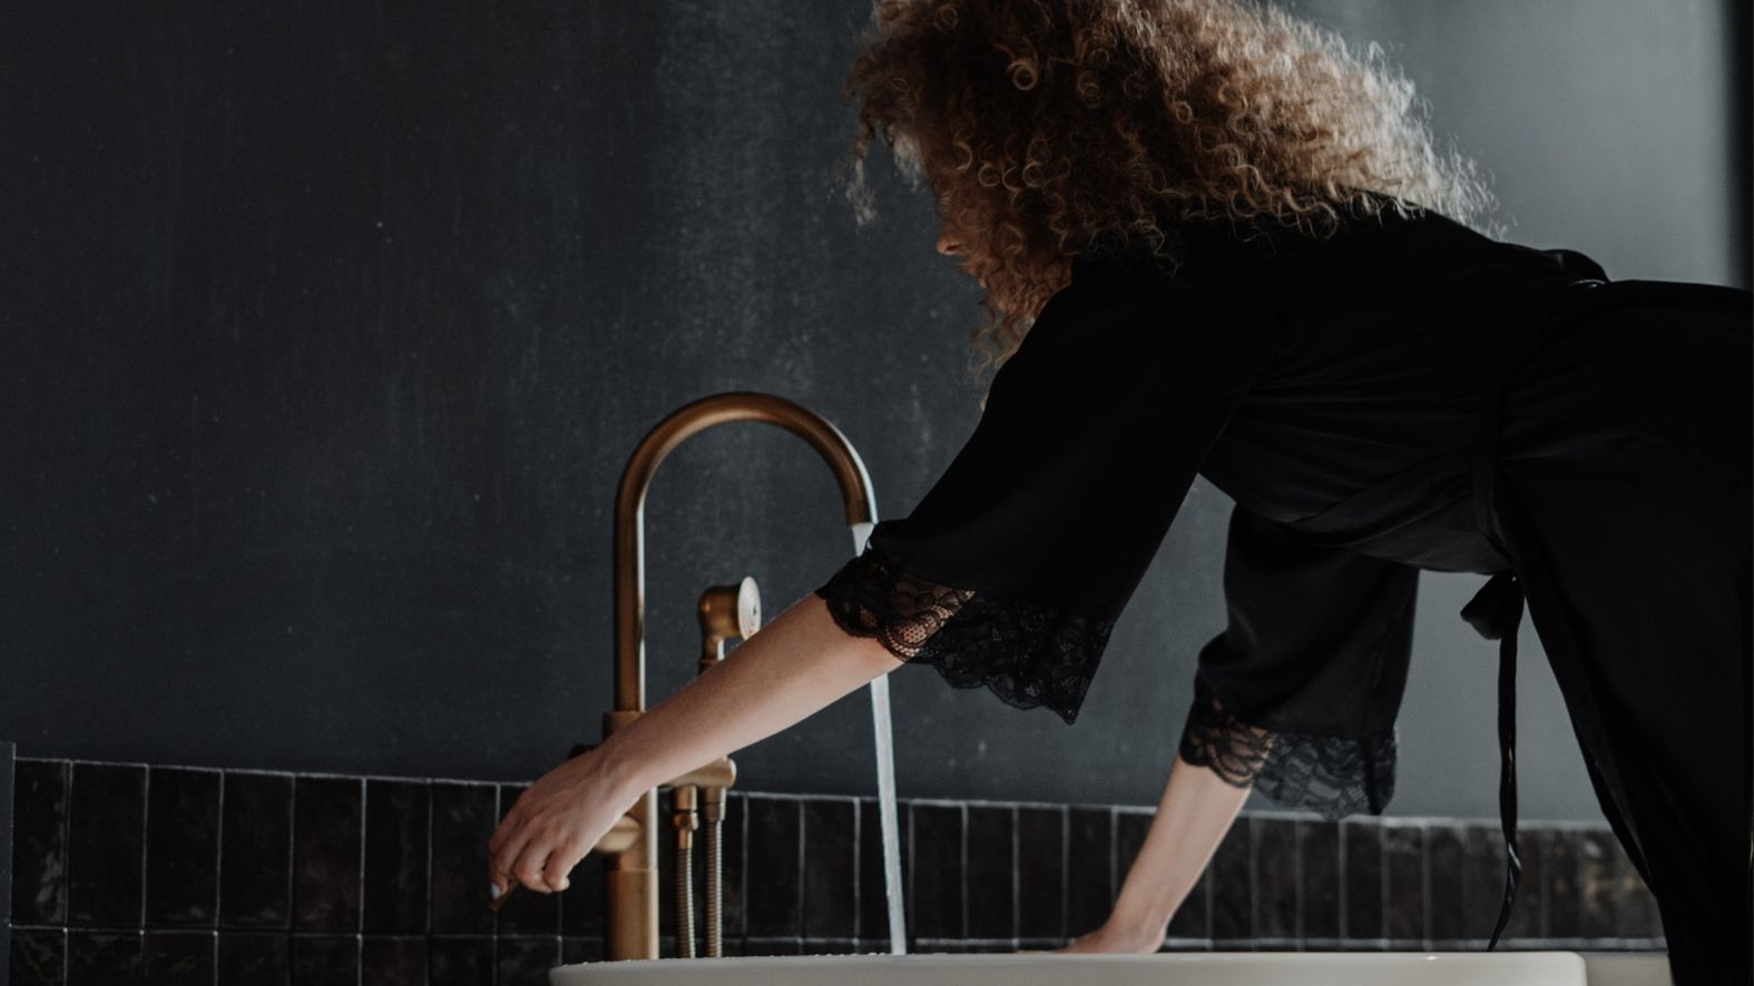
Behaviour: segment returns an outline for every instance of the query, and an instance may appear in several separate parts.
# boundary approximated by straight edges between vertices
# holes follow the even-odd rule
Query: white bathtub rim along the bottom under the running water
[[[1663,953],[800,954],[588,961],[551,986],[1672,986]]]

